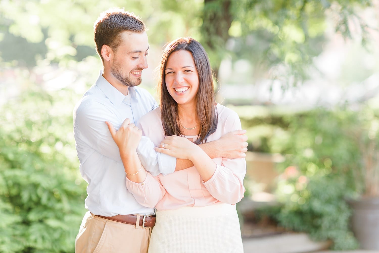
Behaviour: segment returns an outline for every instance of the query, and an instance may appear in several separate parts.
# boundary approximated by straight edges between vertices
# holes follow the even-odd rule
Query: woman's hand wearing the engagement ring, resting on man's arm
[[[164,138],[164,140],[161,141],[161,144],[154,149],[157,152],[168,154],[169,156],[188,160],[193,160],[196,157],[196,154],[204,152],[192,141],[177,135]]]

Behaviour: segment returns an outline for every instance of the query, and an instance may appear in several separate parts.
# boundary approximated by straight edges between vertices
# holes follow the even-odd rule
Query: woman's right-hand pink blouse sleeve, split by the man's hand
[[[223,124],[221,122],[221,124]],[[231,111],[224,122],[224,133],[241,129],[241,121],[238,115]],[[217,200],[235,204],[243,198],[245,188],[243,178],[246,174],[246,160],[244,158],[227,159],[222,158],[221,165],[217,165],[213,176],[202,182],[210,194]]]

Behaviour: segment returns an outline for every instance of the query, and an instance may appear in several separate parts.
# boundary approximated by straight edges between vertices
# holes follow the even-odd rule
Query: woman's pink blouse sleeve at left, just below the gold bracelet
[[[126,178],[126,187],[139,204],[153,208],[163,198],[166,190],[158,177],[153,177],[149,172],[146,174],[146,179],[141,183]]]

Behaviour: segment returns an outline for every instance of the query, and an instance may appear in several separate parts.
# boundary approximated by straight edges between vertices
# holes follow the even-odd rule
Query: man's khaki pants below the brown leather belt
[[[75,253],[146,253],[151,231],[86,212],[75,239]]]

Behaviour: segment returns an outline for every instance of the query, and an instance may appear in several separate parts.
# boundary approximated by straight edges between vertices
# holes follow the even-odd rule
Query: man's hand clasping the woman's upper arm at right
[[[246,130],[234,130],[221,136],[217,140],[220,157],[243,158],[246,157],[247,136]]]

